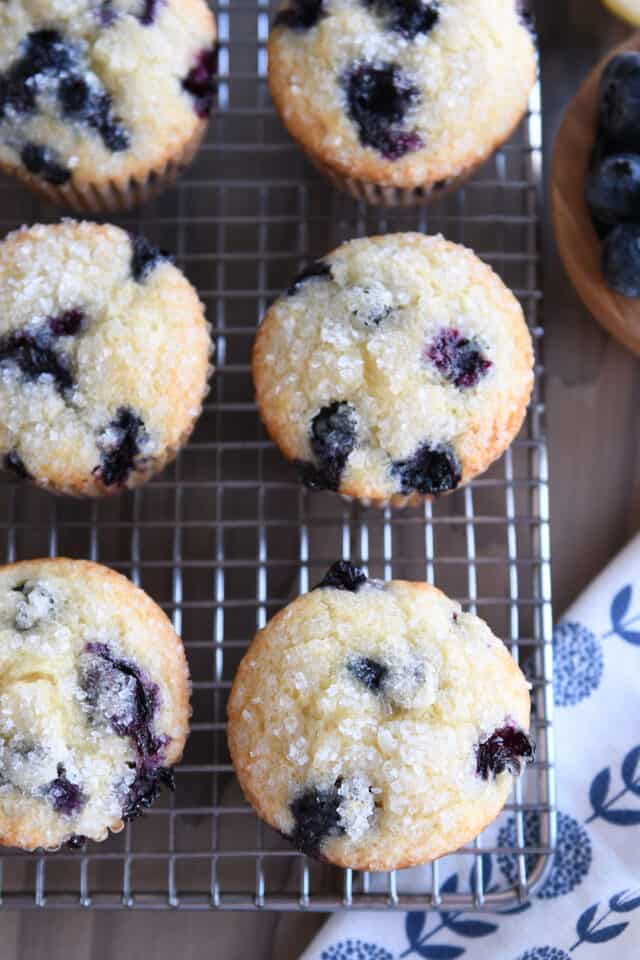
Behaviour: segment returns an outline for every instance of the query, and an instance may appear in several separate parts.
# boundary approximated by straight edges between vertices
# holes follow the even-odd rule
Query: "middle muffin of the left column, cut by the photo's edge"
[[[0,456],[50,490],[143,483],[186,441],[207,388],[202,304],[166,254],[65,221],[0,243]]]

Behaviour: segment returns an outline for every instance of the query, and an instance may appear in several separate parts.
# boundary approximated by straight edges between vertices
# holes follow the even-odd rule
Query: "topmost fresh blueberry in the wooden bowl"
[[[640,53],[613,57],[600,79],[600,128],[619,152],[640,152]]]

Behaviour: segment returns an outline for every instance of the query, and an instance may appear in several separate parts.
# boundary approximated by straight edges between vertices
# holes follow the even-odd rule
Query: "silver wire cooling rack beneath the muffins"
[[[510,143],[464,190],[428,210],[367,209],[311,170],[274,114],[265,80],[268,0],[212,6],[220,78],[208,142],[174,190],[120,220],[175,251],[206,303],[217,373],[200,423],[170,469],[119,498],[84,503],[10,480],[0,487],[7,561],[99,560],[169,612],[191,663],[192,734],[176,793],[122,834],[77,852],[1,857],[0,905],[502,908],[541,882],[555,839],[540,92]],[[3,233],[57,215],[0,182]],[[422,509],[368,511],[297,485],[258,422],[250,351],[259,317],[304,261],[349,237],[406,229],[440,231],[495,267],[526,311],[538,376],[520,438],[486,475]],[[538,754],[498,821],[509,830],[418,874],[373,877],[308,861],[258,822],[229,762],[225,702],[248,641],[340,556],[373,576],[435,581],[489,621],[532,683]],[[484,889],[481,857],[494,854],[503,880]],[[467,862],[476,869],[464,869]],[[455,892],[445,882],[453,869],[461,878]]]

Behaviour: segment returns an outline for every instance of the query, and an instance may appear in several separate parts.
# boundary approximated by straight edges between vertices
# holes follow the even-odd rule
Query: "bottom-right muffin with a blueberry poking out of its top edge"
[[[475,837],[533,758],[527,683],[478,617],[424,583],[335,564],[258,633],[229,701],[248,800],[342,867],[426,863]]]

